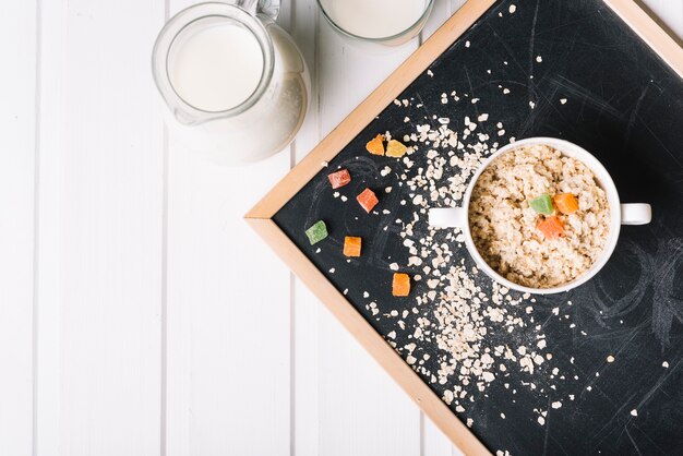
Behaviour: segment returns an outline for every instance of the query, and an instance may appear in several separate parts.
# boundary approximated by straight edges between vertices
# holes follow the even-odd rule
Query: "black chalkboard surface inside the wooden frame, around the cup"
[[[415,343],[418,320],[433,317],[433,309],[414,299],[429,289],[429,274],[408,266],[399,233],[416,209],[416,192],[399,177],[420,172],[429,147],[420,145],[407,167],[369,155],[364,145],[385,131],[403,139],[419,124],[436,129],[439,119],[476,121],[482,113],[488,120],[464,143],[480,141],[479,133],[492,147],[529,136],[577,143],[610,171],[622,202],[652,205],[654,220],[623,227],[594,280],[536,297],[531,309],[512,309],[525,323],[514,335],[489,323],[495,344],[513,349],[525,338],[536,348],[531,339],[542,332],[546,347],[538,352],[546,360],[534,373],[496,370],[495,381],[483,391],[468,388],[464,407],[453,401],[451,408],[494,453],[683,454],[683,81],[601,1],[495,3],[274,220],[408,359],[400,349]],[[327,175],[338,167],[350,170],[352,182],[335,194]],[[458,170],[446,166],[448,172]],[[355,201],[366,187],[380,197],[373,214]],[[304,230],[319,219],[329,237],[311,247]],[[360,259],[342,254],[348,235],[363,238]],[[427,236],[419,223],[410,238]],[[450,263],[472,266],[465,249],[450,242]],[[411,298],[391,296],[393,263],[422,276]],[[476,280],[483,290],[492,287],[482,274]],[[441,348],[429,338],[418,345],[410,351],[421,360],[418,373],[446,397],[457,377],[434,382]]]

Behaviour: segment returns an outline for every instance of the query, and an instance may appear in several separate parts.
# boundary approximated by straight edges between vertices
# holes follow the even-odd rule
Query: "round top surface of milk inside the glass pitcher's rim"
[[[176,93],[204,111],[242,104],[263,73],[259,40],[243,26],[227,21],[180,35],[170,56],[168,73]]]

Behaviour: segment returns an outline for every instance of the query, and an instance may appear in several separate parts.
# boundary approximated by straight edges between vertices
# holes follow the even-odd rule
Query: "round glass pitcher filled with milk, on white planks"
[[[152,72],[169,131],[214,161],[269,157],[303,123],[309,72],[275,24],[278,4],[196,4],[171,17],[156,39]]]

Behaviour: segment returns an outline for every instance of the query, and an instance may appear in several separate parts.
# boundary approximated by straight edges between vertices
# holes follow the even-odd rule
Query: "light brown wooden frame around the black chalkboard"
[[[602,1],[683,77],[683,49],[645,11],[633,0]],[[465,3],[244,217],[424,413],[467,455],[490,453],[279,229],[273,217],[321,170],[322,163],[332,160],[494,3],[495,0],[469,0]]]

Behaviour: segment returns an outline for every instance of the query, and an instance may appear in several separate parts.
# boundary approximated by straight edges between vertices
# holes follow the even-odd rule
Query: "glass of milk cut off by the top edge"
[[[342,35],[363,43],[398,46],[420,33],[434,0],[317,0],[317,4]]]

